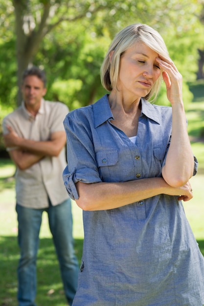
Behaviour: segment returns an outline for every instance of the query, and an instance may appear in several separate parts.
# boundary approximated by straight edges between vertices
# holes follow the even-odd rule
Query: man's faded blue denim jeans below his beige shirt
[[[16,204],[18,215],[18,242],[21,257],[18,265],[19,306],[36,306],[36,260],[42,214],[46,211],[49,228],[59,260],[62,281],[69,305],[77,288],[78,261],[74,254],[70,199],[46,209],[32,209]]]

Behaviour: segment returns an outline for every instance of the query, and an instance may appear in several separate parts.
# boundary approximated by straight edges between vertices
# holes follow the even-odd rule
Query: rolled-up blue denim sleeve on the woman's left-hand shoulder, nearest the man
[[[91,111],[91,110],[90,110]],[[101,182],[95,160],[91,135],[91,119],[81,110],[70,112],[64,120],[67,136],[68,165],[63,171],[63,180],[69,197],[78,199],[75,184]]]

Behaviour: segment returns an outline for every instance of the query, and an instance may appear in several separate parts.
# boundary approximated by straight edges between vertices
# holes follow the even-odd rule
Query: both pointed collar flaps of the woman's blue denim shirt
[[[146,117],[160,124],[160,108],[155,104],[151,104],[144,98],[141,98],[141,104],[141,116],[145,115]],[[93,117],[94,128],[97,128],[107,120],[114,119],[108,100],[108,94],[104,95],[101,99],[93,104]]]

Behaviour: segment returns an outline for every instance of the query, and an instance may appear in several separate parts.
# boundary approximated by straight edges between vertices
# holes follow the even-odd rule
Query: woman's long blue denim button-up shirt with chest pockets
[[[136,143],[111,120],[108,96],[64,120],[68,166],[63,178],[122,182],[161,176],[171,130],[170,107],[142,99]],[[195,161],[195,171],[197,162]],[[84,211],[84,248],[73,306],[202,306],[204,258],[177,197],[158,195],[123,207]]]

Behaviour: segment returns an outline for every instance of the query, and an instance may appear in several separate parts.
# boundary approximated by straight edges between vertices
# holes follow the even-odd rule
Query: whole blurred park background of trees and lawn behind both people
[[[164,38],[183,76],[188,132],[199,161],[191,179],[194,198],[186,216],[204,254],[204,0],[1,0],[0,1],[0,306],[17,306],[19,259],[15,167],[2,141],[2,118],[21,104],[23,70],[45,69],[45,99],[70,110],[94,103],[106,91],[100,66],[114,35],[147,23]],[[158,104],[169,105],[162,84]],[[83,244],[82,211],[72,203],[75,251]],[[46,215],[38,254],[38,306],[63,306],[65,297]]]

